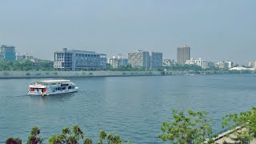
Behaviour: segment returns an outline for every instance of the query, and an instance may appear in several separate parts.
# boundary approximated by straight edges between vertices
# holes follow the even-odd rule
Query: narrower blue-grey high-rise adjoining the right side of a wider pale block
[[[162,67],[162,53],[150,51],[150,69],[158,69]]]

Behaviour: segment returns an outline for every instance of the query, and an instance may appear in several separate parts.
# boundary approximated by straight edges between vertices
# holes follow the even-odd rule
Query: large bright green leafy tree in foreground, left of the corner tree
[[[206,111],[182,111],[173,110],[174,122],[163,122],[162,134],[158,134],[163,141],[169,140],[173,143],[203,143],[212,134],[210,124],[212,119],[207,117]],[[210,143],[210,141],[208,141]]]

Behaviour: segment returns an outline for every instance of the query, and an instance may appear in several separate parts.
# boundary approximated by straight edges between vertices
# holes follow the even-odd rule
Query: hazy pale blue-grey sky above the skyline
[[[108,57],[154,50],[176,59],[256,60],[255,0],[0,0],[0,45],[53,59],[62,47]]]

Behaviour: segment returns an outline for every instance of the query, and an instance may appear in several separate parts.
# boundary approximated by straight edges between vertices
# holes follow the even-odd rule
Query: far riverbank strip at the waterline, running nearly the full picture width
[[[87,77],[128,77],[128,76],[166,76],[166,75],[212,75],[244,73],[190,73],[188,71],[0,71],[0,79],[6,78],[87,78]]]

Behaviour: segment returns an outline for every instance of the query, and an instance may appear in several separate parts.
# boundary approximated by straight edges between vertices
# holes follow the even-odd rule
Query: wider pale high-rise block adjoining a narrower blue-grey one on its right
[[[128,63],[130,63],[132,67],[142,67],[144,69],[149,69],[150,53],[148,51],[142,50],[128,53]]]

